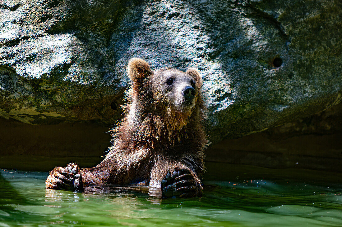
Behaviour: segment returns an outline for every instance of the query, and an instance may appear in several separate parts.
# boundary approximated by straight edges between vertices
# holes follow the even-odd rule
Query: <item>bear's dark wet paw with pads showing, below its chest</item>
[[[201,196],[202,191],[199,178],[188,169],[175,168],[172,172],[168,170],[161,181],[161,193],[164,198]]]

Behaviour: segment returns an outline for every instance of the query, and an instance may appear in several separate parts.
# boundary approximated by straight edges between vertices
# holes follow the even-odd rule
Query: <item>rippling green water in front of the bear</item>
[[[137,186],[45,190],[47,172],[0,169],[0,226],[342,226],[341,183],[241,169],[208,173],[201,198],[165,200]]]

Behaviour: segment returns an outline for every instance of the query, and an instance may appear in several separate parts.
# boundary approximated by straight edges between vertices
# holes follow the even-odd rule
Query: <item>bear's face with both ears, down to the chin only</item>
[[[195,68],[188,68],[186,72],[170,68],[153,72],[146,61],[133,58],[127,72],[133,82],[133,92],[145,102],[152,101],[154,107],[183,114],[196,106],[202,78]]]

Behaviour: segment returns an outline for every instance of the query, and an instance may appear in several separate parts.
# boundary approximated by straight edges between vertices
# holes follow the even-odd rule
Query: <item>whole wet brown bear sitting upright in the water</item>
[[[154,72],[146,61],[132,58],[127,73],[132,81],[128,103],[104,160],[81,170],[75,163],[56,167],[46,188],[83,191],[91,185],[138,184],[159,188],[163,197],[201,196],[208,140],[198,70]]]

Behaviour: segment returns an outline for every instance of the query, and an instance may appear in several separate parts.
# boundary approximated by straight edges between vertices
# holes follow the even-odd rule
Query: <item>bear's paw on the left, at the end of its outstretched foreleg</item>
[[[82,176],[80,168],[75,163],[69,163],[65,168],[55,167],[45,181],[46,189],[62,189],[82,191]]]

